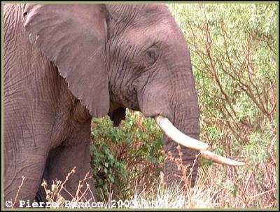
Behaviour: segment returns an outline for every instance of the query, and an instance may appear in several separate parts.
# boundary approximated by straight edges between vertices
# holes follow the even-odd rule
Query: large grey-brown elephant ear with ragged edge
[[[109,112],[106,18],[100,4],[26,4],[29,41],[55,63],[69,90],[94,117]]]

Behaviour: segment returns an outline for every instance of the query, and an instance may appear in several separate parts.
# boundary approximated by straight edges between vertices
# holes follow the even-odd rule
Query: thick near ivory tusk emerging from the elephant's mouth
[[[187,136],[179,131],[172,122],[168,120],[168,118],[162,117],[161,115],[155,116],[155,122],[157,122],[162,132],[165,133],[169,139],[172,139],[176,143],[181,144],[182,146],[186,146],[188,148],[194,150],[207,150],[208,145],[207,143],[203,143],[202,141],[197,141],[196,139]]]

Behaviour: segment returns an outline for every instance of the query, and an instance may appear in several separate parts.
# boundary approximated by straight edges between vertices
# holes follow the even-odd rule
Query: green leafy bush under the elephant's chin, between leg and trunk
[[[116,198],[133,195],[136,185],[152,186],[162,170],[162,134],[154,120],[126,111],[126,120],[113,127],[109,117],[92,119],[92,175],[99,199],[111,189]],[[103,195],[105,197],[103,197]]]

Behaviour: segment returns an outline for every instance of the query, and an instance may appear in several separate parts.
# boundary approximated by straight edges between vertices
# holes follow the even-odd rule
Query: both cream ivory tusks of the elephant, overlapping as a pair
[[[207,150],[208,145],[207,143],[204,143],[202,141],[198,141],[196,139],[191,138],[190,136],[187,136],[186,134],[183,134],[179,131],[174,125],[172,125],[172,122],[168,120],[168,118],[165,118],[161,115],[155,116],[155,122],[157,122],[160,129],[162,129],[162,132],[169,137],[169,139],[172,139],[176,143],[181,144],[182,146],[186,146],[187,148],[194,149],[194,150],[200,150],[200,156],[204,157],[207,160],[211,160],[213,162],[216,162],[218,164],[224,164],[229,166],[243,166],[243,162],[238,162],[235,160],[231,160],[226,157],[222,157],[221,155],[216,155],[215,153],[212,153],[211,151]]]

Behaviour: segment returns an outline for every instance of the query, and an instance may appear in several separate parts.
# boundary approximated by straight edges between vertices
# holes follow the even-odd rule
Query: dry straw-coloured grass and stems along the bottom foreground
[[[177,149],[180,151],[180,148]],[[180,160],[177,160],[177,163],[184,171],[186,167],[182,167]],[[114,199],[114,191],[111,188],[110,194],[106,195],[108,199],[104,198],[98,204],[88,203],[94,198],[90,185],[85,182],[90,178],[89,173],[78,183],[75,195],[71,195],[64,187],[71,175],[75,174],[75,168],[69,172],[63,182],[53,181],[49,189],[47,183],[43,181],[42,186],[50,208],[60,209],[70,206],[73,208],[96,206],[105,209],[276,209],[276,166],[273,162],[270,162],[270,165],[259,164],[259,166],[266,166],[266,169],[269,169],[263,178],[263,183],[267,185],[265,191],[260,188],[264,185],[258,185],[255,179],[255,169],[258,167],[255,166],[252,171],[248,171],[251,170],[248,165],[239,168],[221,165],[200,167],[194,188],[190,188],[188,177],[185,175],[182,176],[182,180],[186,183],[185,187],[179,189],[174,185],[167,188],[162,174],[156,188],[141,188],[138,185],[132,197],[121,200]],[[264,169],[264,167],[259,168]],[[86,189],[81,192],[84,186]],[[18,193],[20,188],[21,186]],[[67,200],[61,195],[62,190],[72,197],[67,204]],[[92,198],[85,199],[88,195]],[[15,200],[17,199],[18,195]]]

